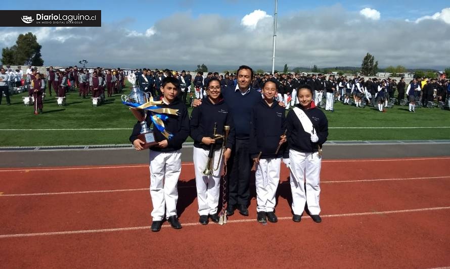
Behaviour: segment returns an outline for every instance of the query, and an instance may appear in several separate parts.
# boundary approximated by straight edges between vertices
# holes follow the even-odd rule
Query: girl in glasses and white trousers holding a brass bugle
[[[220,175],[223,162],[227,162],[235,141],[235,129],[230,109],[223,101],[220,81],[213,77],[206,85],[207,95],[202,105],[194,107],[191,114],[191,137],[194,139],[194,170],[197,187],[199,223],[208,224],[209,218],[217,223],[217,205],[220,194]],[[224,126],[230,126],[225,149],[220,150],[223,139],[214,140],[214,128],[217,135],[224,135]],[[211,151],[212,150],[212,151]],[[223,157],[220,156],[222,152]],[[205,175],[209,154],[212,154],[211,175]],[[214,170],[216,169],[216,170]],[[225,197],[223,197],[225,198]]]

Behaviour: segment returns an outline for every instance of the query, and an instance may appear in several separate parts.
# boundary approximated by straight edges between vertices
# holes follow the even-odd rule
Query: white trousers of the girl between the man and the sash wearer
[[[281,158],[259,159],[255,174],[256,211],[272,212],[275,208],[275,193],[280,182]]]

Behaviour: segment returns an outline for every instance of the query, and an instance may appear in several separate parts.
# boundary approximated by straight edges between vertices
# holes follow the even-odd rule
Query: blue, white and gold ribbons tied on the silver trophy
[[[167,139],[173,137],[173,134],[166,131],[164,121],[169,118],[167,115],[176,116],[178,110],[159,106],[160,104],[163,104],[162,101],[153,100],[153,96],[149,97],[145,92],[139,90],[137,87],[131,89],[131,93],[128,96],[122,95],[122,103],[133,110],[144,110],[150,112],[150,119],[153,122],[153,125],[161,132],[161,134],[164,135],[164,137],[166,137]],[[145,122],[145,116],[146,115],[144,114],[143,122]],[[141,125],[142,124],[143,123],[141,123]]]

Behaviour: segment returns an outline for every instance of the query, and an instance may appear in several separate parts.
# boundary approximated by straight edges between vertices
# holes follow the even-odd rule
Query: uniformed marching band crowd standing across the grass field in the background
[[[45,94],[44,88],[37,89],[31,87],[31,82],[36,79],[38,73],[36,68],[28,66],[26,73],[23,74],[21,69],[13,71],[9,66],[4,73],[7,75],[3,81],[0,81],[0,90],[6,95],[7,103],[10,103],[9,95],[13,87],[21,87],[28,89],[30,96],[36,94],[42,98]],[[172,71],[136,69],[134,75],[137,78],[137,85],[142,91],[148,92],[152,96],[161,98],[160,86],[161,81],[165,77],[175,77],[181,85],[179,93],[184,103],[191,104],[194,98],[203,98],[206,95],[206,87],[209,80],[213,77],[220,81],[222,89],[237,85],[235,74],[226,73],[219,75],[217,72],[207,73],[198,72],[193,78],[190,71]],[[25,77],[24,77],[25,76]],[[0,74],[0,80],[2,80]],[[111,97],[113,93],[122,91],[125,87],[125,76],[120,68],[102,69],[97,67],[92,74],[87,69],[78,69],[77,66],[69,67],[61,70],[54,70],[53,67],[47,68],[46,74],[41,74],[39,79],[44,79],[45,88],[49,89],[52,96],[52,88],[57,97],[65,97],[66,92],[73,91],[78,88],[79,96],[86,98],[89,94],[91,97],[99,98],[102,101],[105,97]],[[440,107],[450,106],[450,85],[448,80],[435,78],[417,78],[406,84],[404,78],[400,81],[395,79],[377,79],[354,76],[347,78],[346,76],[335,76],[325,74],[255,74],[251,82],[251,87],[261,92],[264,82],[271,80],[277,85],[276,99],[283,101],[286,110],[295,106],[298,99],[295,97],[299,85],[310,85],[313,90],[314,102],[317,106],[322,107],[325,111],[334,111],[334,103],[342,101],[343,104],[354,104],[355,107],[365,107],[371,105],[377,107],[380,112],[385,112],[386,107],[392,107],[394,103],[399,105],[409,104],[409,111],[415,112],[416,105],[423,107],[434,107],[436,102]],[[6,83],[5,83],[6,81]],[[2,84],[4,84],[2,86]],[[43,87],[43,86],[41,86]],[[6,89],[9,89],[6,90]],[[412,90],[410,90],[412,88]],[[37,90],[37,91],[36,91]],[[394,97],[397,92],[396,98]],[[105,96],[106,93],[106,96]],[[3,94],[0,94],[3,95]],[[189,95],[189,100],[188,99]],[[294,96],[294,97],[293,97]],[[1,103],[0,96],[0,103]],[[41,102],[39,103],[41,105]],[[41,109],[39,110],[41,111]]]

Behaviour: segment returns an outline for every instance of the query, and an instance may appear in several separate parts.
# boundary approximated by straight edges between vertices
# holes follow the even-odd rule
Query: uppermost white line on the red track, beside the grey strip
[[[366,163],[366,162],[403,162],[405,160],[442,160],[450,157],[427,157],[427,158],[393,158],[393,159],[336,159],[322,160],[322,163]],[[183,166],[193,166],[194,163],[182,163]],[[148,165],[129,165],[129,166],[96,166],[96,167],[67,167],[67,168],[30,168],[30,169],[6,169],[0,172],[32,172],[32,171],[58,171],[58,170],[93,170],[93,169],[114,169],[114,168],[141,168]]]

